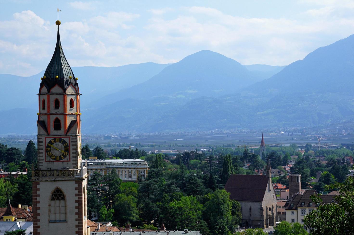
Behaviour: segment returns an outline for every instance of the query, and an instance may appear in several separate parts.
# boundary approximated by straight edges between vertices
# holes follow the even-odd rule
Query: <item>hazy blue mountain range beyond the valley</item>
[[[354,35],[286,67],[244,66],[203,50],[170,65],[73,71],[82,93],[84,133],[313,127],[354,120]],[[36,133],[42,73],[0,75],[1,134]]]

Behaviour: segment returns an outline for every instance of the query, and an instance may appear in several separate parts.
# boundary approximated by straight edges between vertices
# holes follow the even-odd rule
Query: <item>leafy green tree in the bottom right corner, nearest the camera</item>
[[[334,203],[324,204],[318,195],[311,196],[315,203],[320,203],[317,210],[304,217],[304,224],[313,235],[354,234],[354,177],[348,176],[343,183],[325,187],[326,190],[335,188],[339,189],[339,195],[334,196]]]

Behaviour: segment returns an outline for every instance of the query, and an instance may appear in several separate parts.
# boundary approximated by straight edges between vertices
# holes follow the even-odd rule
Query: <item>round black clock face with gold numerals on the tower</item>
[[[63,138],[56,137],[49,139],[47,141],[46,153],[54,161],[63,161],[69,155],[69,144]]]

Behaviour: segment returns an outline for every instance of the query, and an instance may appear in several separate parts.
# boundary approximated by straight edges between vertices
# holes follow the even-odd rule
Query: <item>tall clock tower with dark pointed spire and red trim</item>
[[[87,168],[81,164],[80,93],[59,36],[38,93],[33,234],[87,234]],[[87,165],[87,164],[86,164]]]

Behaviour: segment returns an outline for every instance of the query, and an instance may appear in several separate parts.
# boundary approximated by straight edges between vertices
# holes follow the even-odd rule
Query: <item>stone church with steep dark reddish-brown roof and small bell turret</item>
[[[268,159],[266,175],[231,175],[225,185],[230,199],[241,204],[242,226],[267,228],[277,221],[276,194]]]

